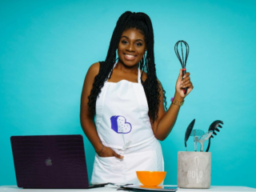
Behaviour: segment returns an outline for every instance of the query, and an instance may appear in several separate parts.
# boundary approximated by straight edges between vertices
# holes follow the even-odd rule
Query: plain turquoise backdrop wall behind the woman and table
[[[131,10],[153,22],[168,106],[181,68],[174,44],[190,45],[194,90],[161,142],[165,183],[177,184],[177,156],[185,150],[189,123],[196,118],[194,129],[206,131],[220,119],[224,126],[210,147],[212,185],[256,187],[255,7],[255,1],[0,1],[0,185],[16,185],[10,136],[83,134],[86,72],[106,58],[118,17]],[[94,149],[85,135],[84,141],[90,175]],[[190,138],[189,150],[193,145]]]

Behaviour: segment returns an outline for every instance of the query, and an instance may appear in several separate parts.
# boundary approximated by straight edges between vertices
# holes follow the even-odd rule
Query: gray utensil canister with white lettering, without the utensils
[[[211,153],[178,151],[178,186],[208,189],[210,187]]]

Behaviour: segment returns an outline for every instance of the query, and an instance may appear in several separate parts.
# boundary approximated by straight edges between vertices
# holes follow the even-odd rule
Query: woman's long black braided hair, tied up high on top
[[[106,60],[101,66],[101,69],[98,75],[94,78],[93,88],[90,91],[89,95],[89,110],[90,114],[95,114],[95,105],[98,95],[101,93],[102,86],[104,86],[104,82],[109,79],[109,74],[112,74],[112,69],[114,67],[114,63],[116,62],[116,50],[118,49],[118,43],[120,41],[122,32],[124,30],[128,30],[130,28],[134,28],[139,30],[145,37],[146,41],[146,55],[143,55],[142,60],[139,62],[139,68],[142,70],[142,75],[145,72],[147,74],[146,81],[144,83],[141,81],[144,86],[144,90],[146,90],[146,98],[149,106],[149,116],[152,122],[158,119],[158,109],[160,103],[160,85],[157,80],[155,63],[154,63],[154,32],[152,22],[150,17],[144,13],[132,13],[130,11],[126,11],[124,14],[118,18],[117,25],[114,28],[114,32],[112,34],[112,38],[110,40],[110,47],[106,55]],[[110,74],[110,76],[111,76]],[[163,90],[163,88],[162,88]],[[166,108],[166,91],[163,90],[164,96],[164,104],[165,110]]]

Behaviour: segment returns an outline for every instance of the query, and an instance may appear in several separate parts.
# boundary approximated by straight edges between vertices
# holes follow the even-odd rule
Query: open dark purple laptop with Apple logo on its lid
[[[90,185],[82,135],[10,137],[18,187],[88,189]]]

